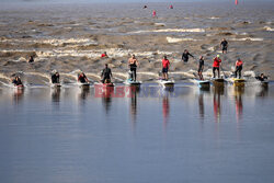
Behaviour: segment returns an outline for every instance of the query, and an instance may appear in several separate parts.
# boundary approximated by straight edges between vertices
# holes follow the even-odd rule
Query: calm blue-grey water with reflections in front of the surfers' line
[[[1,89],[0,182],[272,183],[273,90]]]

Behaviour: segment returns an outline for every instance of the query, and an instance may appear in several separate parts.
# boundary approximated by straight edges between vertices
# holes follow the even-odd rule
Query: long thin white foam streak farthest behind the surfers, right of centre
[[[149,31],[136,31],[134,34],[139,33],[204,33],[204,28],[167,28],[167,30],[149,30]]]

